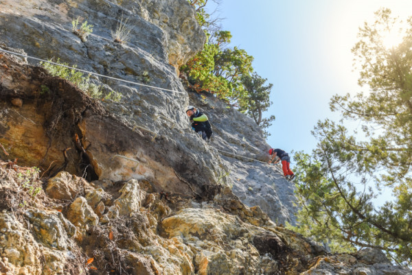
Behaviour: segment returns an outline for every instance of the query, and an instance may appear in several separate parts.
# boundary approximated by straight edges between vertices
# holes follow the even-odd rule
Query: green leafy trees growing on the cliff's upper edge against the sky
[[[181,72],[187,75],[191,88],[195,91],[215,94],[255,119],[262,129],[267,128],[275,119],[273,115],[262,118],[262,112],[271,104],[269,94],[272,84],[268,85],[270,88],[265,92],[260,91],[258,87],[254,90],[251,86],[245,87],[244,80],[252,79],[257,75],[255,73],[252,75],[253,56],[244,49],[228,47],[231,33],[220,28],[216,29],[216,21],[211,20],[204,9],[207,0],[188,1],[196,9],[196,18],[199,25],[203,26],[207,42],[203,51],[198,52],[181,67]],[[266,131],[264,133],[268,135]]]

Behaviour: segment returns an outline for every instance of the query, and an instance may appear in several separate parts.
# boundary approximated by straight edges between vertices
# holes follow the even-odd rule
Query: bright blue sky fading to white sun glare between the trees
[[[310,153],[317,121],[339,118],[329,110],[332,95],[367,91],[357,85],[350,50],[358,27],[381,7],[400,19],[412,16],[407,0],[222,0],[218,14],[233,35],[230,46],[253,56],[255,71],[273,84],[269,145]]]

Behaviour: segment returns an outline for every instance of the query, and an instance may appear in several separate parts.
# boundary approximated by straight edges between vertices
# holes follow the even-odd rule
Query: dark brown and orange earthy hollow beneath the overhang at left
[[[76,117],[84,112],[86,106],[96,105],[69,82],[46,76],[43,70],[24,65],[22,58],[9,57],[10,59],[4,55],[0,56],[3,64],[3,82],[0,89],[0,143],[8,152],[8,158],[19,158],[19,164],[36,166],[44,171],[49,169],[50,173],[54,173],[56,169],[66,169],[72,174],[80,173],[76,165],[80,157],[74,149],[74,132],[69,125],[76,121]],[[56,91],[60,91],[59,98],[45,93],[45,97],[40,99],[38,96],[41,93],[41,85],[50,89],[56,88]],[[67,89],[71,89],[71,93],[67,93]],[[10,100],[16,97],[25,99],[25,104],[21,108],[10,103]],[[58,108],[55,108],[56,105]],[[62,113],[69,115],[62,116]],[[65,149],[70,149],[66,152],[68,163],[65,163],[63,154]]]

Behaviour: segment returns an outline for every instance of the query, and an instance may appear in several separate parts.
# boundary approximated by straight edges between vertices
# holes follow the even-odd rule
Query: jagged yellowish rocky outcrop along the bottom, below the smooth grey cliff
[[[2,193],[15,189],[5,182],[19,182],[24,167],[14,169],[0,165]],[[71,180],[60,178],[63,184]],[[23,206],[0,205],[0,272],[411,274],[376,250],[328,254],[276,226],[259,208],[245,206],[229,195],[230,189],[209,202],[162,198],[145,189],[144,181],[95,181],[87,191],[93,200],[79,196],[69,204],[37,195],[23,199],[14,193],[8,200],[27,201]],[[89,195],[93,193],[100,195]],[[99,219],[92,208],[100,202],[108,207]],[[106,220],[111,208],[117,215]]]

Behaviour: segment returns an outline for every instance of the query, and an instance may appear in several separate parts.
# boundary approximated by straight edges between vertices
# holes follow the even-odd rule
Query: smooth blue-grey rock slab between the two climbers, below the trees
[[[273,222],[294,225],[295,185],[284,178],[280,167],[267,164],[271,147],[253,119],[214,97],[192,93],[190,102],[209,118],[214,129],[211,145],[230,171],[233,193],[249,207],[260,206]]]

